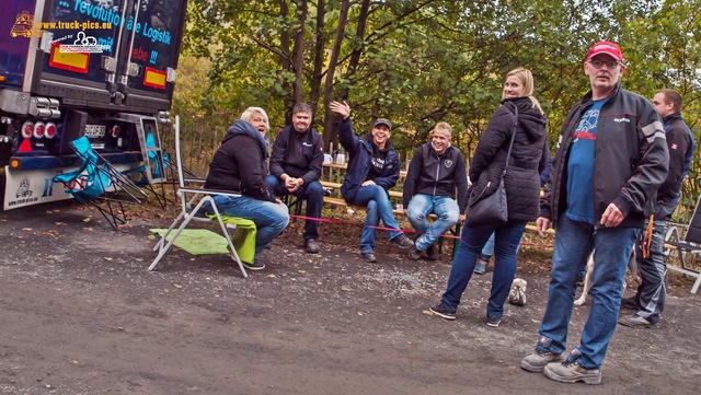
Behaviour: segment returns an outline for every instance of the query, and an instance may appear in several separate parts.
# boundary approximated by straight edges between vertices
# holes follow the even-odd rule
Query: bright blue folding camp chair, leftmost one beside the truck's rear
[[[71,141],[70,146],[82,163],[78,170],[58,174],[53,181],[62,183],[66,193],[79,202],[95,207],[112,229],[117,230],[127,221],[123,204],[140,204],[148,195],[95,152],[87,137]]]

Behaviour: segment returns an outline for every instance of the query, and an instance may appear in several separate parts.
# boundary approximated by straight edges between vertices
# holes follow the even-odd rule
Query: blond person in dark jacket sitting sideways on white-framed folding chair
[[[289,222],[287,206],[275,199],[265,183],[269,130],[263,108],[249,107],[229,128],[209,165],[205,188],[226,190],[241,196],[216,196],[217,209],[223,216],[245,218],[255,223],[255,258],[246,268],[261,270],[265,265],[258,255],[280,234]],[[208,208],[208,211],[209,208]]]

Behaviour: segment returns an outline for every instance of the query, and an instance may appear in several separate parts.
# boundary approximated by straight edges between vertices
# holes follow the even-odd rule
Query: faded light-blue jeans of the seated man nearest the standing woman
[[[438,219],[430,225],[426,220],[434,212]],[[416,239],[416,249],[424,251],[448,232],[460,219],[460,208],[450,196],[414,195],[406,208],[406,217],[412,228],[424,234]]]

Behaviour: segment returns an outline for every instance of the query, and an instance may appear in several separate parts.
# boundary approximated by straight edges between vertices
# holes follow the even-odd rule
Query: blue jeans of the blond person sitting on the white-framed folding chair
[[[278,234],[283,233],[289,222],[287,206],[283,204],[258,200],[249,196],[215,196],[214,199],[222,216],[245,218],[255,223],[256,258]],[[211,212],[209,207],[207,211]]]

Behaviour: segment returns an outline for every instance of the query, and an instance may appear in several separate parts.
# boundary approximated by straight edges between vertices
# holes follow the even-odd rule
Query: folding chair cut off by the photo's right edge
[[[701,212],[699,212],[700,202],[701,197],[699,197],[699,200],[697,201],[697,207],[693,210],[693,216],[691,216],[689,225],[686,226],[687,233],[683,236],[683,241],[681,240],[679,226],[677,225],[669,226],[669,229],[667,230],[667,234],[665,235],[665,253],[667,257],[676,253],[679,259],[679,266],[669,265],[668,262],[667,268],[682,272],[687,276],[696,277],[697,280],[693,283],[693,287],[691,287],[691,293],[697,293],[697,291],[699,290],[699,286],[701,286],[701,271],[687,266],[687,260],[694,262],[699,257],[701,257],[699,255],[701,254]]]

